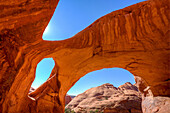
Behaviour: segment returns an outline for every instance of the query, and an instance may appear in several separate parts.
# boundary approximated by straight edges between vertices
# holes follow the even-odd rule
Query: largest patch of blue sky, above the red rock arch
[[[44,33],[44,40],[74,36],[98,18],[144,0],[60,0]]]

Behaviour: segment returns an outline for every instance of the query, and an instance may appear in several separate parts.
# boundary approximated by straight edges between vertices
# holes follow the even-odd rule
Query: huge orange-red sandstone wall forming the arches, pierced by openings
[[[170,95],[169,0],[114,11],[70,39],[43,41],[57,3],[0,1],[0,112],[64,112],[69,88],[102,68],[133,73],[143,97]],[[36,66],[47,57],[54,59],[55,67],[28,96]]]

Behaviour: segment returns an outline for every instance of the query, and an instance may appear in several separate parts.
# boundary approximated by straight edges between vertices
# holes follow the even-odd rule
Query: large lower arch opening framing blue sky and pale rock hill
[[[68,91],[67,112],[141,112],[141,94],[133,74],[122,68],[90,72]]]

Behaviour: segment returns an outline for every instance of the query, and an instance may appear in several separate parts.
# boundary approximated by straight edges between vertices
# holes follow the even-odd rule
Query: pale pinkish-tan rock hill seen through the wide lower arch
[[[76,113],[90,111],[111,113],[142,113],[141,94],[135,85],[127,82],[118,88],[106,83],[88,89],[76,96],[66,109]]]

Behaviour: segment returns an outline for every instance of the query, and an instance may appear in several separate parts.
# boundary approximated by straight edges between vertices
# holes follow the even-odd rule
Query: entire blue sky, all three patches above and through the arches
[[[64,40],[74,36],[98,18],[118,9],[145,0],[60,0],[52,19],[43,34],[44,40]],[[43,59],[36,70],[32,87],[37,88],[45,82],[54,66],[52,58]],[[94,81],[95,80],[95,81]],[[83,91],[111,83],[118,87],[125,82],[135,83],[133,75],[121,68],[110,68],[88,73],[68,92],[77,95]]]

